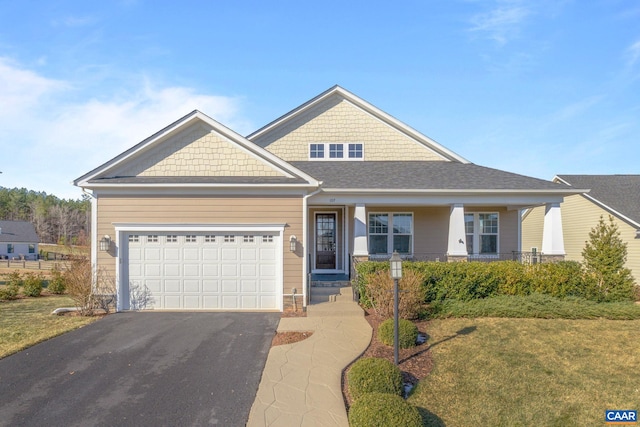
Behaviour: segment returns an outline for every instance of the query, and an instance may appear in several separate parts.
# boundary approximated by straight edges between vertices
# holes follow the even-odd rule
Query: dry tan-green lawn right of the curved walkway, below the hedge
[[[437,319],[409,402],[433,426],[594,426],[640,409],[640,320]]]

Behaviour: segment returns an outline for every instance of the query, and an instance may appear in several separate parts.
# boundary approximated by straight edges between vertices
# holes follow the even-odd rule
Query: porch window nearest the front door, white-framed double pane
[[[413,214],[369,214],[369,253],[390,254],[413,251]]]

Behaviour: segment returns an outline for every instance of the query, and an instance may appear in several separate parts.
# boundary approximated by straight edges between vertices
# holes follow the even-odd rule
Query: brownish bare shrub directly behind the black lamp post
[[[367,295],[378,316],[387,319],[393,316],[393,279],[388,271],[377,271],[368,276]],[[424,275],[419,271],[402,272],[398,283],[398,316],[415,319],[420,314],[425,299]]]

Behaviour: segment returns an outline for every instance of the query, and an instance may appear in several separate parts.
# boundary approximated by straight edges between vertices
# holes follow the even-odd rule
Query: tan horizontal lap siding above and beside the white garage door
[[[301,289],[302,255],[289,251],[289,237],[302,235],[302,199],[222,197],[100,197],[98,237],[110,235],[113,223],[140,224],[286,224],[283,239],[284,293]],[[98,265],[115,277],[115,254],[98,252]]]

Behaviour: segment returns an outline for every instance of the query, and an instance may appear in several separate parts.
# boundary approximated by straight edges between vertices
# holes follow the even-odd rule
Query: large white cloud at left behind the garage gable
[[[78,99],[69,83],[0,61],[0,186],[78,198],[69,183],[198,109],[240,132],[252,130],[237,97],[161,87],[148,79],[99,99]],[[134,84],[135,84],[134,83]]]

